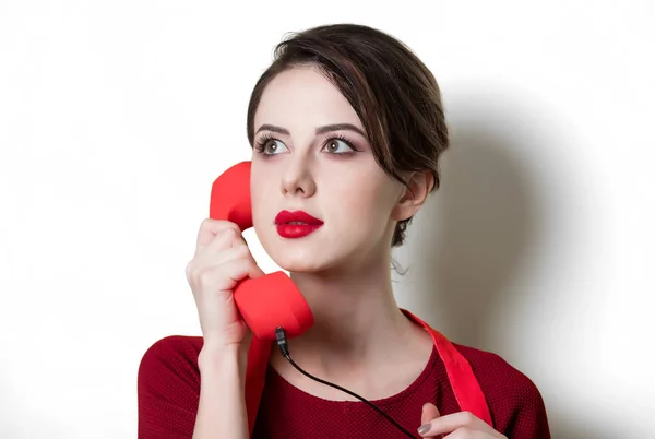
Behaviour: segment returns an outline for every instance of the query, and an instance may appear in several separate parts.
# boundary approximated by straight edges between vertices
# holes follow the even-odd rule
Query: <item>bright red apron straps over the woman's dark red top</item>
[[[410,320],[428,331],[432,337],[439,356],[445,366],[448,379],[462,412],[471,412],[493,427],[489,406],[487,405],[483,390],[466,358],[464,358],[462,354],[455,349],[455,346],[453,346],[453,344],[441,333],[430,328],[426,322],[418,319],[409,311],[404,309],[402,311]],[[246,369],[246,408],[248,411],[250,435],[252,435],[254,428],[257,412],[264,390],[269,356],[271,355],[273,344],[274,343],[264,342],[254,337],[250,345],[250,351],[248,352],[248,366]]]

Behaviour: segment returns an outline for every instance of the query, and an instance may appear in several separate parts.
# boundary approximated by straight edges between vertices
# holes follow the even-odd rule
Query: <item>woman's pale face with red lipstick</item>
[[[278,74],[264,90],[254,132],[253,223],[281,268],[360,270],[371,258],[386,260],[395,221],[414,211],[403,209],[405,187],[378,166],[359,118],[330,81],[311,67]],[[322,224],[276,224],[281,211]]]

